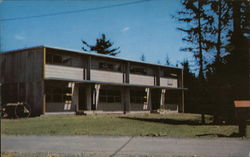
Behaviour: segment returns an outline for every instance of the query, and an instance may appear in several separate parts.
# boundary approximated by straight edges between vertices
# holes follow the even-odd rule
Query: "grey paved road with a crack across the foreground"
[[[114,136],[6,136],[3,152],[76,156],[235,156],[250,157],[249,139]]]

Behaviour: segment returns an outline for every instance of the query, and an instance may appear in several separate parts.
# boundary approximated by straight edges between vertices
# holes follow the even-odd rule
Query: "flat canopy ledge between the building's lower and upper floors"
[[[138,84],[128,84],[128,83],[113,83],[113,82],[92,81],[92,80],[64,79],[64,78],[57,78],[57,77],[48,77],[48,78],[45,78],[44,80],[102,84],[102,85],[113,85],[113,86],[124,86],[124,87],[144,87],[144,88],[158,88],[158,89],[169,89],[169,90],[187,90],[187,88],[173,88],[173,87],[166,87],[166,86],[150,86],[150,85],[138,85]]]

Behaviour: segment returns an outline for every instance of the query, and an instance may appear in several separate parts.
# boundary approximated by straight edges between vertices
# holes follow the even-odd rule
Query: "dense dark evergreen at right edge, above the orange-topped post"
[[[231,74],[233,99],[249,99],[249,36],[250,36],[250,2],[232,1],[233,30],[228,45],[229,55],[225,58]],[[248,83],[247,83],[248,82]]]

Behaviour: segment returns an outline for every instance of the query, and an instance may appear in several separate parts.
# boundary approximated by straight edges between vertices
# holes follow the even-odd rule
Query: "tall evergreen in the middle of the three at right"
[[[224,56],[227,55],[227,34],[231,29],[231,4],[226,0],[210,0],[211,17],[214,23],[208,25],[212,34],[210,53],[214,52],[214,60],[207,65],[206,86],[208,89],[207,101],[210,104],[210,113],[214,114],[214,121],[218,115],[226,109],[230,102],[230,88],[228,87],[228,76],[226,75],[226,64]]]

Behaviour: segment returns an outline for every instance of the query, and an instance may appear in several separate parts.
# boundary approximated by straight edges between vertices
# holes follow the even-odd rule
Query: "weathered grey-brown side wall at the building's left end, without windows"
[[[43,48],[0,54],[3,104],[28,103],[32,115],[43,112]]]

